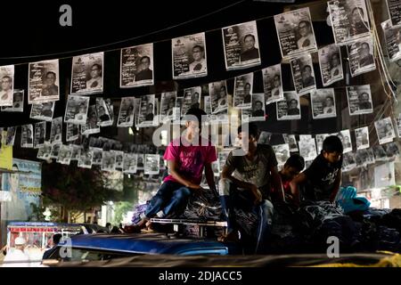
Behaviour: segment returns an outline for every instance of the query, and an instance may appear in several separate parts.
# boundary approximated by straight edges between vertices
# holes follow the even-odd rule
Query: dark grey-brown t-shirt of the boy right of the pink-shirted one
[[[233,156],[232,151],[225,161],[225,166],[233,172],[236,179],[263,188],[270,183],[270,169],[277,166],[277,159],[270,145],[258,144],[253,161],[245,156]]]

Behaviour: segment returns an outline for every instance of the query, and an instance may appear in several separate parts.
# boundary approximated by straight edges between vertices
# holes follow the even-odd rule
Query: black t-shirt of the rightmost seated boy
[[[324,159],[323,154],[315,158],[310,167],[304,171],[307,175],[307,199],[329,200],[332,191],[334,191],[334,182],[340,174],[342,167],[342,156],[339,162],[331,164]]]

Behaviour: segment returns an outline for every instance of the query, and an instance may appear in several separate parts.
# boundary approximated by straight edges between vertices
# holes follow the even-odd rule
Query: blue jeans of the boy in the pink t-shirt
[[[171,214],[179,216],[184,213],[191,193],[192,191],[183,184],[167,181],[161,184],[159,191],[151,199],[151,203],[146,209],[145,216],[152,217],[157,214],[160,217],[169,216]]]

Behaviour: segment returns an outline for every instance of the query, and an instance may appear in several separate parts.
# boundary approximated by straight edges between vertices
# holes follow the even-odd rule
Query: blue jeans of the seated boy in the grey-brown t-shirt
[[[256,239],[255,253],[265,252],[272,228],[273,204],[268,199],[264,199],[255,205],[250,191],[238,189],[229,179],[221,179],[218,186],[228,232],[233,230],[241,232],[241,225],[235,220],[233,208],[241,208],[243,211],[255,214],[258,216],[257,229],[253,234]]]

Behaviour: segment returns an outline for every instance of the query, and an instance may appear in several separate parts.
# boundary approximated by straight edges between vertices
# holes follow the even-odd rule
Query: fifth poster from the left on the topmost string
[[[205,33],[171,40],[173,79],[208,75]]]

